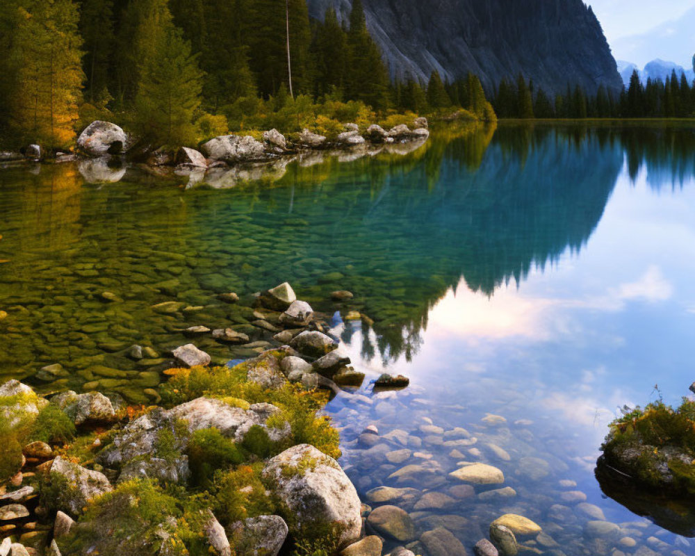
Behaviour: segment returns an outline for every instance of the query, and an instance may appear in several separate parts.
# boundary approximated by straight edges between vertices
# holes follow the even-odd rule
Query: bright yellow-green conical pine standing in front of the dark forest
[[[134,126],[140,136],[178,146],[195,142],[193,118],[200,106],[202,72],[190,43],[171,18],[152,28],[140,64]]]

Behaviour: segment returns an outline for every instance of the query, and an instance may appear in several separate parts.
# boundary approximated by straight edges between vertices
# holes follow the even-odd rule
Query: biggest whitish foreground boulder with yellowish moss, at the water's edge
[[[359,540],[359,496],[332,457],[300,444],[270,459],[263,478],[289,512],[292,533],[336,526],[341,547]]]

